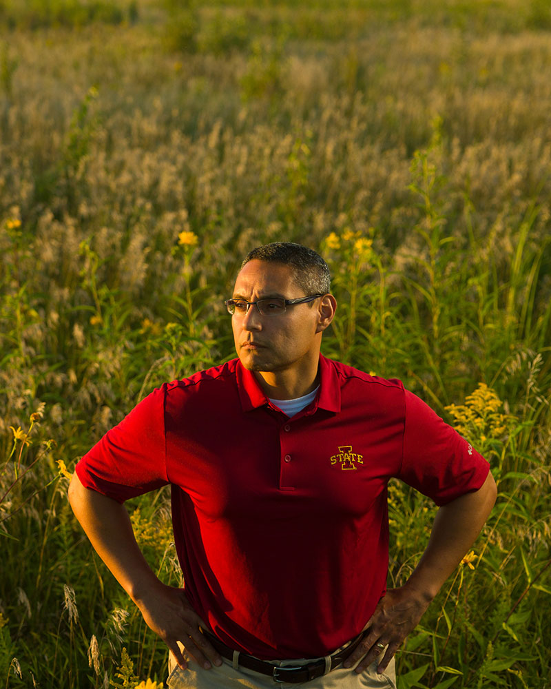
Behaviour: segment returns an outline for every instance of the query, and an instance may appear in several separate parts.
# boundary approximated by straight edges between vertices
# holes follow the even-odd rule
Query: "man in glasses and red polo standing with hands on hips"
[[[74,513],[169,647],[169,687],[393,687],[397,648],[495,502],[488,463],[399,381],[320,355],[336,302],[315,251],[253,249],[227,308],[238,359],[140,402],[77,464]],[[393,476],[440,508],[386,590]],[[183,589],[154,575],[122,504],[165,484]]]

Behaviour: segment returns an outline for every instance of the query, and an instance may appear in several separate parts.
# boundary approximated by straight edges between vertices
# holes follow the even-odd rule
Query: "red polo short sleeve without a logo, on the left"
[[[166,485],[165,386],[154,390],[76,464],[85,488],[117,502]]]

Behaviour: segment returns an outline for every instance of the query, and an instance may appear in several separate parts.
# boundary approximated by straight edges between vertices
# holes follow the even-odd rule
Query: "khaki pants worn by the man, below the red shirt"
[[[344,648],[344,647],[343,647]],[[384,651],[383,651],[384,653]],[[331,666],[331,661],[326,657],[326,666]],[[187,670],[180,670],[174,656],[170,654],[168,669],[169,677],[167,686],[169,689],[292,689],[293,687],[304,687],[304,689],[396,689],[396,675],[394,658],[382,673],[377,675],[377,662],[371,664],[364,672],[357,675],[354,668],[343,668],[339,666],[318,679],[300,684],[290,684],[287,682],[275,682],[268,675],[261,675],[259,672],[241,668],[239,666],[239,654],[236,652],[231,660],[222,658],[222,665],[217,668],[213,666],[210,670],[205,670],[196,662],[187,657]],[[273,661],[281,667],[299,666],[311,663],[317,658],[301,660]]]

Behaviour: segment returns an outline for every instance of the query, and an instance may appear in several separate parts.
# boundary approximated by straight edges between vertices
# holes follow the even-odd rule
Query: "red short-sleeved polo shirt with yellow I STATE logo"
[[[123,502],[171,484],[185,590],[229,646],[319,657],[365,626],[385,592],[386,484],[445,504],[488,463],[398,380],[320,357],[293,418],[239,360],[154,390],[76,466]]]

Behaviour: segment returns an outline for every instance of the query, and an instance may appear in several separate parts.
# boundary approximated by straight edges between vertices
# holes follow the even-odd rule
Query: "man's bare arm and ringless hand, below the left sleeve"
[[[69,502],[96,553],[140,608],[143,619],[174,653],[180,668],[186,661],[178,641],[198,664],[221,664],[216,650],[199,629],[200,620],[180,588],[160,582],[141,552],[126,508],[83,486],[74,473]],[[210,661],[210,662],[209,662]]]

